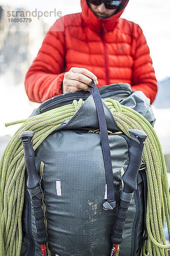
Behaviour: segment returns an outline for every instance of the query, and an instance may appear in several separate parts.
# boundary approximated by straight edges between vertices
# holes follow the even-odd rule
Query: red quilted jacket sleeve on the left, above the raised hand
[[[64,23],[62,19],[58,19],[45,36],[42,47],[26,74],[25,88],[30,100],[43,102],[62,93],[64,56]]]

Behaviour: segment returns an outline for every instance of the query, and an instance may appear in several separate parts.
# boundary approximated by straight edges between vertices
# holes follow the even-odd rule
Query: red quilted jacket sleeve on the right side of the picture
[[[132,90],[142,90],[152,104],[157,93],[157,81],[150,58],[149,47],[142,29],[137,25],[134,31]]]

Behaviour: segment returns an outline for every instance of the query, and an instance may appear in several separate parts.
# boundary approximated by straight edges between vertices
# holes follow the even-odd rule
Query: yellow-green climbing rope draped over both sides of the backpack
[[[167,256],[164,237],[164,215],[170,235],[170,195],[167,172],[161,146],[152,125],[138,112],[121,105],[113,99],[105,99],[113,117],[122,131],[130,136],[129,129],[139,129],[147,134],[143,159],[146,163],[148,183],[147,238],[142,247],[142,256]],[[22,209],[24,201],[25,160],[20,134],[34,131],[33,148],[56,130],[63,121],[71,119],[83,104],[82,99],[31,118],[9,123],[24,122],[9,141],[0,160],[0,256],[20,256],[22,242]]]

